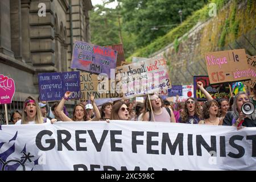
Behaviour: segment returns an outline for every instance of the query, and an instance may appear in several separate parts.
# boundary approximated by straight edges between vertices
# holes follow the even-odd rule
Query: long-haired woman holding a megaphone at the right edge
[[[250,98],[245,92],[237,93],[232,111],[226,114],[223,125],[236,126],[238,130],[242,127],[256,127],[255,107],[250,104]]]

